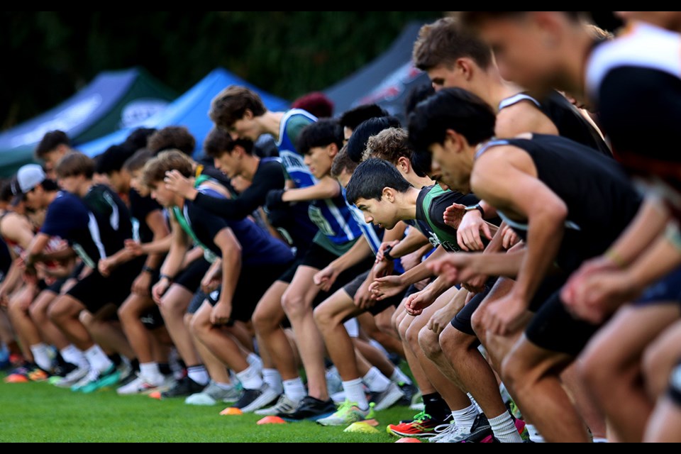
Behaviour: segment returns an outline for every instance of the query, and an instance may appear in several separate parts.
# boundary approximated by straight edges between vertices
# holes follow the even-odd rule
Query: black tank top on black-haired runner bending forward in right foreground
[[[494,140],[490,148],[511,145],[525,150],[537,168],[538,179],[567,205],[565,236],[556,263],[572,272],[582,262],[602,255],[629,226],[641,206],[641,195],[615,160],[557,135],[535,134],[532,139]],[[527,240],[526,220],[499,216]]]

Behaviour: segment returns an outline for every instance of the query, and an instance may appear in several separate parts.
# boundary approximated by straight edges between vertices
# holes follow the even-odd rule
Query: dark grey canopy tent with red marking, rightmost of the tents
[[[356,106],[376,103],[404,122],[404,106],[411,90],[430,83],[428,76],[411,64],[414,42],[426,23],[409,23],[386,52],[324,90],[339,115]]]

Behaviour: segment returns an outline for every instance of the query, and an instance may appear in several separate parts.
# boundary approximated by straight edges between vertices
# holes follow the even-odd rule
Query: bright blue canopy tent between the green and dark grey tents
[[[248,87],[257,92],[262,98],[262,102],[267,106],[267,109],[272,111],[289,109],[289,101],[263,92],[231,72],[217,68],[204,77],[204,79],[201,79],[188,92],[179,96],[160,114],[148,118],[137,127],[160,129],[166,126],[185,126],[196,138],[196,153],[198,154],[201,151],[204,138],[206,138],[206,135],[208,135],[213,127],[213,123],[208,116],[211,101],[230,85]],[[111,145],[123,143],[134,130],[135,128],[124,128],[91,142],[76,145],[76,148],[82,153],[94,157],[104,153]]]

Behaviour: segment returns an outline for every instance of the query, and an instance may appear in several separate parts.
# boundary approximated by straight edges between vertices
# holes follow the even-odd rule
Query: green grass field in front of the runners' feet
[[[344,433],[312,422],[258,426],[255,415],[219,416],[225,406],[182,399],[119,397],[114,390],[79,394],[47,383],[6,384],[0,376],[0,443],[392,443],[385,427],[414,411],[377,415],[377,434]]]

